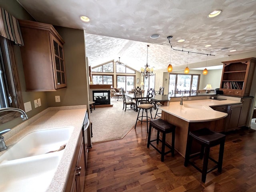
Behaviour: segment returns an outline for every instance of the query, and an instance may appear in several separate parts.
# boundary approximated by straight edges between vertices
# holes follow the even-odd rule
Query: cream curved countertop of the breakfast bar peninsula
[[[241,102],[233,101],[233,100],[213,100],[213,99],[184,100],[183,105],[180,105],[180,102],[170,102],[169,106],[161,106],[160,109],[168,114],[176,116],[187,122],[204,122],[204,121],[219,120],[228,115],[224,112],[215,111],[212,108],[210,108],[210,106],[222,106],[222,105],[234,105],[234,104],[241,104]],[[203,106],[203,107],[196,108],[200,106]]]

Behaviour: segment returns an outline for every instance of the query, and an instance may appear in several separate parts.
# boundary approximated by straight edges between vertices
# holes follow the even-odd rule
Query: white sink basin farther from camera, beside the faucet
[[[29,133],[0,156],[0,163],[56,151],[68,142],[73,130],[70,126]]]

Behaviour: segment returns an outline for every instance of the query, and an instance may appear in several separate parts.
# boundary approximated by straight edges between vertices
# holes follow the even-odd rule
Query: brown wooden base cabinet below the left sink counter
[[[80,133],[65,192],[84,192],[85,182],[84,137]]]

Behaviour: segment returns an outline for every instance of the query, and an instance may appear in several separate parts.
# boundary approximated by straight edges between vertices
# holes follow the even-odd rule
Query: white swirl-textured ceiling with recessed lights
[[[90,65],[118,60],[140,70],[170,63],[174,49],[210,54],[208,60],[256,50],[255,0],[18,0],[38,21],[84,29]],[[222,10],[207,18],[213,10]],[[86,15],[90,22],[79,17]],[[151,39],[153,33],[160,34]],[[186,39],[178,43],[178,39]],[[211,47],[204,47],[211,44]],[[221,50],[229,47],[229,49]],[[236,49],[235,52],[230,50]],[[206,61],[206,55],[172,51],[172,65]],[[220,65],[217,63],[216,65]],[[203,66],[198,66],[203,67]]]

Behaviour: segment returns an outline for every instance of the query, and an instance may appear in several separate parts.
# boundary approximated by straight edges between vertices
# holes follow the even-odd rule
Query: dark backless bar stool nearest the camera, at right
[[[207,128],[199,129],[197,131],[190,131],[188,135],[184,166],[187,167],[188,163],[191,163],[191,165],[194,168],[196,168],[198,171],[202,173],[202,182],[205,182],[206,174],[211,172],[212,170],[218,168],[218,172],[221,172],[225,138],[226,138],[226,135],[222,133],[217,133],[215,131],[211,131],[210,129],[207,129]],[[201,145],[201,151],[200,153],[196,153],[195,155],[190,155],[193,140]],[[212,159],[209,156],[210,147],[214,147],[216,145],[220,145],[218,161]],[[204,157],[202,169],[198,168],[192,161],[190,161],[190,159],[199,155],[200,155],[200,159],[203,159]],[[213,168],[210,168],[209,170],[207,170],[208,159],[210,159],[211,161],[217,164],[216,166],[214,166]]]

